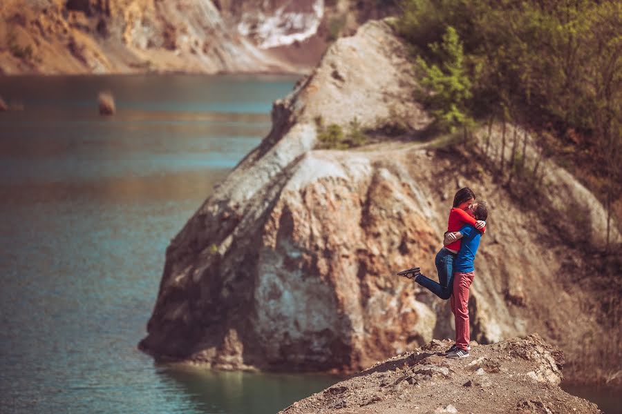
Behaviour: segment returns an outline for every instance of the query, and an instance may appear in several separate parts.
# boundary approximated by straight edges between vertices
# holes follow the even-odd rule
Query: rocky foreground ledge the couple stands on
[[[450,344],[433,341],[379,362],[281,413],[601,412],[558,386],[563,353],[538,335],[474,345],[470,359],[444,357]]]

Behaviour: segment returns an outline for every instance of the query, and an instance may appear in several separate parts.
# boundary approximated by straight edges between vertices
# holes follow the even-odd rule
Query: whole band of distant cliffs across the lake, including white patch
[[[0,74],[305,72],[372,3],[4,0]]]

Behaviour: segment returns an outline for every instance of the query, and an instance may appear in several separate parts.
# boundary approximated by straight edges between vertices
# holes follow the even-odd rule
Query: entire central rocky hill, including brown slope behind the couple
[[[472,338],[537,331],[571,363],[587,360],[605,329],[599,298],[567,269],[602,243],[602,206],[540,159],[520,128],[505,129],[521,137],[525,165],[538,164],[546,189],[530,193],[531,208],[489,167],[513,157],[500,126],[468,145],[422,141],[431,119],[414,98],[415,75],[390,26],[370,21],[274,103],[272,131],[167,248],[144,351],[225,369],[352,372],[453,336],[448,304],[395,272],[417,265],[435,275],[453,193],[468,184],[491,206]],[[407,132],[357,150],[316,149],[319,124],[347,129],[355,118],[378,136]],[[557,234],[563,223],[581,226],[583,245]]]

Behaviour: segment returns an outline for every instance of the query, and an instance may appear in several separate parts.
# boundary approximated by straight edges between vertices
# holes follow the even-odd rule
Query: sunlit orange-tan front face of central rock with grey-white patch
[[[273,364],[365,366],[411,345],[402,333],[412,327],[432,338],[434,313],[388,266],[408,264],[400,246],[434,248],[417,184],[365,157],[338,158],[305,155],[262,229],[251,322],[261,343],[279,344],[266,350]]]

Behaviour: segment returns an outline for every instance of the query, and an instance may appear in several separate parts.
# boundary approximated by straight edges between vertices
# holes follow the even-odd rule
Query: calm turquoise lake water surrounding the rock
[[[275,413],[339,378],[156,366],[169,240],[294,77],[0,77],[0,413]],[[97,115],[110,90],[117,114]],[[614,390],[568,387],[605,413]]]

